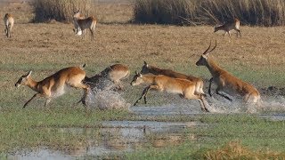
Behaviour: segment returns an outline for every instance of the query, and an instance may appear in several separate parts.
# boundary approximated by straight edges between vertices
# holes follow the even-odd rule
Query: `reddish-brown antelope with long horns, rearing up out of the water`
[[[197,66],[206,66],[208,70],[210,71],[211,75],[213,76],[210,79],[209,89],[208,93],[210,96],[212,96],[210,90],[211,90],[211,84],[214,81],[214,83],[217,85],[216,88],[216,94],[224,97],[227,100],[232,101],[227,95],[220,92],[226,92],[226,93],[238,93],[241,96],[244,97],[244,100],[252,103],[260,102],[260,94],[256,90],[254,86],[251,84],[248,84],[246,82],[243,82],[239,78],[232,76],[229,72],[225,71],[223,68],[219,67],[216,62],[209,57],[210,52],[214,51],[215,47],[208,52],[208,50],[211,47],[211,43],[208,46],[208,49],[203,52],[199,60],[196,62]]]

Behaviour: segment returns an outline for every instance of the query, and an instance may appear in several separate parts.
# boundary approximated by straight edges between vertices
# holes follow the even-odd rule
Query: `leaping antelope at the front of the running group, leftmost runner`
[[[29,71],[27,75],[20,76],[20,79],[15,84],[16,87],[26,85],[37,92],[24,104],[23,108],[26,108],[28,103],[36,97],[44,97],[46,99],[46,106],[53,98],[64,94],[68,87],[82,88],[87,92],[87,90],[89,90],[89,86],[82,84],[82,80],[85,78],[85,71],[83,70],[84,67],[85,65],[80,67],[62,68],[52,76],[48,76],[39,82],[31,78],[32,71]]]

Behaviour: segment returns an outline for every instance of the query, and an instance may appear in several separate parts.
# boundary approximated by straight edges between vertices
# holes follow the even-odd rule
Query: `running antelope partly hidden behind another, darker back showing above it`
[[[164,75],[164,76],[169,76],[169,77],[174,77],[174,78],[181,78],[181,79],[187,79],[190,80],[191,82],[195,83],[195,92],[198,92],[200,94],[203,94],[206,96],[205,92],[203,91],[203,80],[199,77],[195,76],[186,76],[181,73],[175,72],[171,69],[163,69],[163,68],[157,68],[154,66],[150,66],[147,64],[147,62],[144,61],[144,64],[142,66],[141,70],[142,74],[153,74],[153,75]]]

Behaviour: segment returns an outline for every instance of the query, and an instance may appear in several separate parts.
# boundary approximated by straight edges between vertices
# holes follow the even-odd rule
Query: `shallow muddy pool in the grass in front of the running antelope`
[[[106,121],[102,122],[100,128],[59,128],[61,132],[73,132],[74,134],[94,134],[95,132],[98,134],[99,132],[100,136],[97,140],[90,140],[89,145],[78,145],[77,148],[63,151],[45,147],[37,148],[33,151],[21,151],[9,155],[8,159],[76,159],[84,156],[120,154],[150,144],[160,148],[170,143],[180,144],[185,139],[194,139],[194,136],[185,137],[183,133],[198,125],[201,124],[195,122]]]

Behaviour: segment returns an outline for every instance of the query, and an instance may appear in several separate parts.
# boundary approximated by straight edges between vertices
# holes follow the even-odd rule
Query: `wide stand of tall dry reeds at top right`
[[[215,25],[238,18],[260,26],[285,24],[284,0],[136,0],[134,21],[140,23]]]

